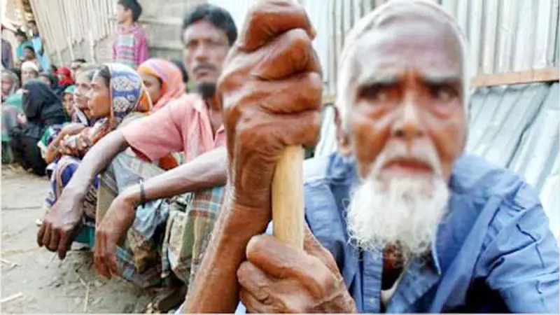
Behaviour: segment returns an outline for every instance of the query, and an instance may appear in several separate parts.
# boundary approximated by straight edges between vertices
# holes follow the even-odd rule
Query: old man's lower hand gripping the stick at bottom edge
[[[237,279],[239,297],[251,313],[356,312],[335,260],[308,229],[304,250],[260,235],[246,254]]]

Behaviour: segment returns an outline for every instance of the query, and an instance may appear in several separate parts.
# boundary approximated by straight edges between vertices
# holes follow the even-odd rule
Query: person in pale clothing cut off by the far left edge
[[[13,162],[10,148],[10,130],[18,125],[18,114],[22,113],[20,78],[12,71],[2,71],[2,163]]]

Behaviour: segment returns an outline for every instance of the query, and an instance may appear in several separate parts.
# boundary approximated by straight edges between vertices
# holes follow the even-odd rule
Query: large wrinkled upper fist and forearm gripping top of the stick
[[[287,146],[318,139],[322,81],[311,48],[314,35],[295,1],[258,1],[225,60],[218,99],[227,137],[228,199],[189,288],[186,312],[235,310],[236,272],[247,242],[272,215],[276,162]]]

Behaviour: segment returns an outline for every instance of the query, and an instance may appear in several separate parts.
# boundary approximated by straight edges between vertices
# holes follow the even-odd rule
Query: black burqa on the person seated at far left
[[[15,162],[24,169],[32,169],[37,175],[44,175],[47,165],[37,143],[47,127],[64,123],[64,109],[55,92],[41,81],[25,83],[23,90],[23,112],[27,123],[10,132],[10,146]]]

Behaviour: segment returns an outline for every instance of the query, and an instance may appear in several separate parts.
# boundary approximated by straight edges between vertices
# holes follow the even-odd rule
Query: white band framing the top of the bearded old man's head
[[[346,35],[344,47],[342,48],[342,54],[339,61],[339,77],[337,80],[336,101],[336,106],[342,118],[343,126],[346,125],[346,114],[351,106],[351,93],[349,91],[351,85],[351,71],[353,71],[351,65],[358,41],[364,34],[367,33],[367,31],[372,31],[372,29],[378,27],[380,21],[394,14],[402,14],[396,13],[397,9],[406,8],[407,12],[413,12],[414,8],[417,9],[419,6],[423,8],[429,8],[433,11],[433,13],[439,15],[442,20],[447,21],[447,25],[449,25],[452,33],[459,43],[461,49],[461,63],[463,64],[463,107],[465,109],[465,113],[468,113],[468,85],[470,76],[468,74],[468,59],[465,45],[466,40],[465,35],[463,34],[463,31],[461,31],[461,28],[457,24],[455,18],[449,15],[449,13],[445,12],[440,5],[434,3],[433,1],[392,0],[384,3],[384,5],[379,6],[379,8],[365,15]]]

